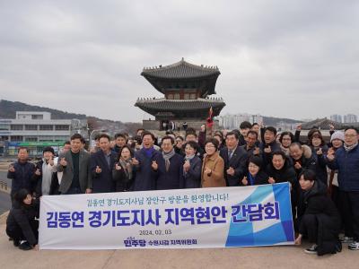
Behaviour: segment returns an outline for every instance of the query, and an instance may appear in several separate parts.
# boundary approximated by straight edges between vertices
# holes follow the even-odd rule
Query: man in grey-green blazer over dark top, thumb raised
[[[70,139],[71,149],[59,156],[57,171],[63,172],[59,192],[61,195],[92,193],[90,153],[82,149],[81,134]]]

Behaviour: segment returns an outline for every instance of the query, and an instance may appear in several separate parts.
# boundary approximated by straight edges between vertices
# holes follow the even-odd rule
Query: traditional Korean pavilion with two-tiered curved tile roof
[[[144,120],[144,128],[159,130],[166,125],[199,128],[206,122],[212,107],[218,116],[225,106],[215,94],[215,82],[221,74],[216,66],[192,65],[183,58],[180,62],[159,67],[144,68],[141,75],[164,96],[160,99],[140,98],[135,106],[155,117]]]

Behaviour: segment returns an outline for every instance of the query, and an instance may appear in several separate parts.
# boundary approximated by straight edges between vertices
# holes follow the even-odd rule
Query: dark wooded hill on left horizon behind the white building
[[[43,108],[39,106],[31,106],[22,102],[13,102],[9,100],[0,100],[0,118],[15,118],[16,111],[45,111],[51,113],[51,119],[87,119],[90,130],[106,129],[110,134],[118,132],[135,133],[136,128],[142,127],[142,124],[126,123],[121,121],[113,121],[109,119],[101,119],[99,117],[90,117],[84,114],[75,114],[64,112],[52,108]]]

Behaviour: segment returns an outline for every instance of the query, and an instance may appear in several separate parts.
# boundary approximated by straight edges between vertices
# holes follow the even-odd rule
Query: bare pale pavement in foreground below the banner
[[[301,247],[151,250],[30,250],[13,247],[0,224],[0,268],[358,268],[359,251],[315,256]],[[91,236],[91,235],[89,235]]]

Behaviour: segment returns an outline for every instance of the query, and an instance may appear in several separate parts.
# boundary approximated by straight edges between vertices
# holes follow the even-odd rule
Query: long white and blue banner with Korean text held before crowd
[[[293,245],[288,183],[45,195],[40,249]]]

